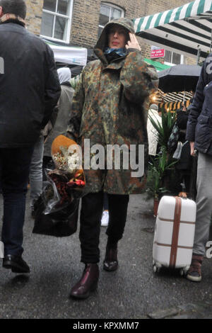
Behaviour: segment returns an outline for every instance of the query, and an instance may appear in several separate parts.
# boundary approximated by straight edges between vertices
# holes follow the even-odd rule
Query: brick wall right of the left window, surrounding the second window
[[[71,43],[86,47],[95,45],[98,38],[101,2],[101,0],[74,0]],[[188,0],[106,0],[103,2],[124,9],[126,18],[139,18],[187,4]],[[139,43],[141,45],[143,43],[141,38]],[[143,55],[150,55],[150,46],[143,47]]]

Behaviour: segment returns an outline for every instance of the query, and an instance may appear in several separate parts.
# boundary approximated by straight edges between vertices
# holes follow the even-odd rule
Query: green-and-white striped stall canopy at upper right
[[[146,43],[204,60],[211,51],[212,0],[196,0],[151,16],[136,18],[134,28]]]

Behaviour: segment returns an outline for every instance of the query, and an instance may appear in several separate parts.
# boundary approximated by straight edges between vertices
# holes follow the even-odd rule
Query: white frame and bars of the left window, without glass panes
[[[54,16],[53,35],[54,35],[54,28],[55,28],[56,17],[59,16],[59,17],[61,17],[61,18],[66,18],[66,19],[68,19],[67,33],[66,33],[66,40],[61,40],[61,39],[58,39],[58,38],[49,37],[49,36],[41,35],[41,34],[40,34],[40,37],[48,38],[49,40],[56,40],[56,41],[58,41],[58,42],[64,42],[64,43],[66,43],[66,44],[69,44],[69,43],[70,43],[70,35],[71,35],[71,19],[72,19],[72,12],[73,12],[73,0],[70,0],[70,1],[71,1],[71,3],[70,3],[69,15],[64,15],[64,14],[57,13],[57,7],[58,7],[58,2],[59,2],[59,0],[57,0],[55,11],[48,11],[47,9],[42,9],[42,12],[43,12],[43,13],[48,13],[48,14],[51,14],[51,15]]]

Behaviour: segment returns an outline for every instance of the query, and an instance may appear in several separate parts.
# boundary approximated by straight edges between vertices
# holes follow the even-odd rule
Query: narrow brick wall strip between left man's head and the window
[[[26,23],[32,33],[40,35],[43,0],[25,0],[27,5]]]

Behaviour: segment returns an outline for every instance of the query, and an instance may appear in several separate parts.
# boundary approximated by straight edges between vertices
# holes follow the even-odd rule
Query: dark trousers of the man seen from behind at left
[[[0,175],[4,197],[4,221],[1,240],[4,256],[23,253],[25,196],[33,147],[0,148]]]

